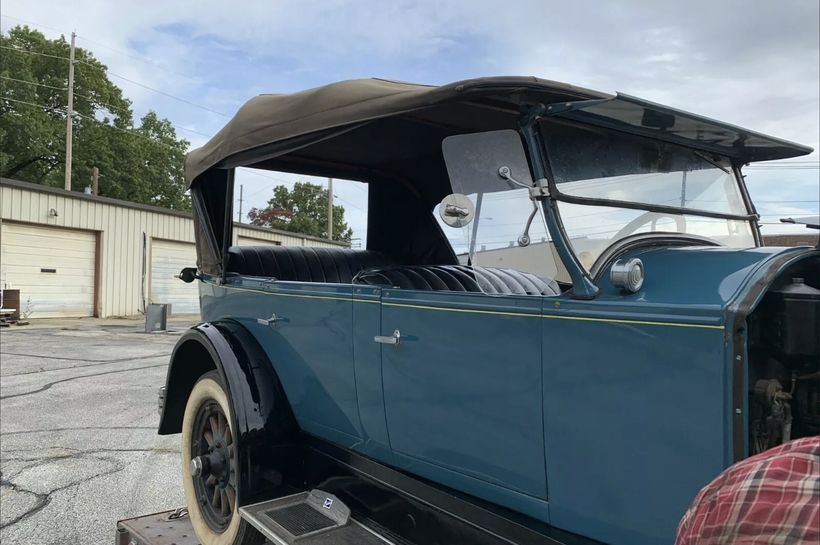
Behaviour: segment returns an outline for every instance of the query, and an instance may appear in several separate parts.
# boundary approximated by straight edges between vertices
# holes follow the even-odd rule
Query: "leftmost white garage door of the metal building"
[[[23,314],[94,315],[95,233],[3,222],[0,235],[0,281],[20,290]]]

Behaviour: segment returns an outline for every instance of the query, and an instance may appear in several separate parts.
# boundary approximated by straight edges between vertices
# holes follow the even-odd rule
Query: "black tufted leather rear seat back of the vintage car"
[[[360,271],[394,264],[379,252],[302,246],[232,246],[228,273],[296,282],[350,284]]]

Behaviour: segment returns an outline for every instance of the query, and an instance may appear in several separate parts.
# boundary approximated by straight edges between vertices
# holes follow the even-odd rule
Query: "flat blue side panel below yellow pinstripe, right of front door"
[[[723,329],[542,323],[553,347],[544,354],[551,522],[613,543],[663,541],[725,467]]]

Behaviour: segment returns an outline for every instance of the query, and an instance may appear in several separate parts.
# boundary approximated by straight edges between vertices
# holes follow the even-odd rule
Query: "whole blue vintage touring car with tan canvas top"
[[[159,432],[199,539],[671,543],[820,433],[820,251],[762,247],[741,174],[810,151],[535,78],[252,99],[186,162]],[[230,246],[237,167],[366,184],[366,249]]]

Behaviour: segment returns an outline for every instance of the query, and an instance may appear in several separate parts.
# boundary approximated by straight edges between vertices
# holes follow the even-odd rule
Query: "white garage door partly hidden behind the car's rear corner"
[[[152,303],[170,303],[173,314],[199,314],[197,282],[175,278],[185,267],[196,267],[196,248],[189,242],[151,241]]]

